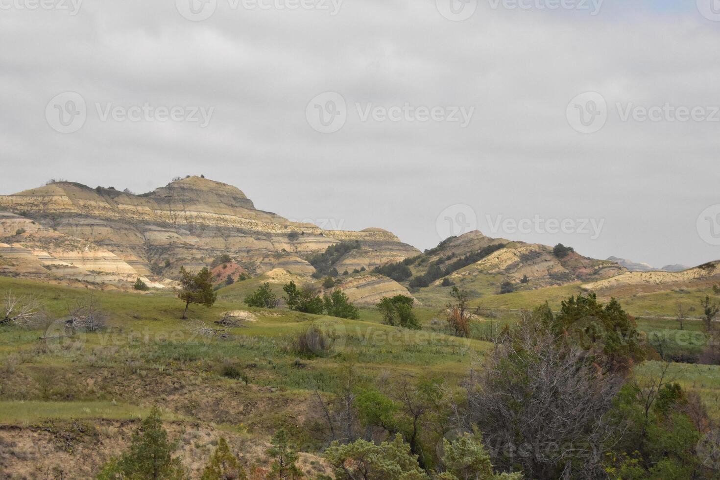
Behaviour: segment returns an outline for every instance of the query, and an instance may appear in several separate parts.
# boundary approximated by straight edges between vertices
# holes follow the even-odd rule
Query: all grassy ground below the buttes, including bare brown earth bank
[[[71,478],[96,473],[100,463],[127,445],[138,418],[161,406],[187,468],[196,471],[207,461],[221,435],[245,452],[246,460],[264,461],[263,445],[282,425],[300,445],[302,468],[319,471],[320,445],[307,422],[316,414],[316,391],[343,388],[343,370],[352,366],[364,385],[441,379],[456,389],[472,367],[472,359],[492,348],[489,340],[503,325],[516,322],[518,312],[548,300],[553,306],[579,286],[568,285],[513,294],[481,296],[473,305],[497,309],[475,322],[470,339],[444,333],[441,308],[416,309],[422,330],[382,325],[374,308],[361,309],[361,320],[302,314],[286,309],[247,309],[243,297],[264,279],[236,282],[220,289],[212,308],[192,306],[180,320],[184,304],[173,294],[148,294],[72,289],[0,277],[0,294],[32,295],[42,302],[48,321],[42,327],[0,327],[0,443],[20,451],[35,443],[46,448],[40,459],[0,458],[0,466],[24,472],[64,468]],[[281,294],[282,284],[271,284]],[[449,296],[437,289],[436,303]],[[693,292],[693,299],[702,292]],[[92,295],[107,316],[99,332],[55,338],[74,302]],[[631,311],[647,309],[659,299],[629,302]],[[670,304],[674,299],[663,299]],[[198,332],[199,322],[215,328],[222,314],[246,309],[254,322],[229,327],[226,339]],[[439,319],[439,320],[438,320]],[[688,322],[699,330],[699,322]],[[297,339],[317,325],[332,340],[319,355],[297,348]],[[641,322],[647,331],[672,331],[672,320]],[[44,340],[43,340],[44,339]],[[657,368],[647,363],[639,375]],[[718,416],[720,367],[676,366],[683,386],[700,391]],[[13,432],[10,445],[6,432]],[[260,445],[260,446],[258,446]],[[20,454],[18,453],[20,456]],[[22,457],[22,456],[20,456]]]

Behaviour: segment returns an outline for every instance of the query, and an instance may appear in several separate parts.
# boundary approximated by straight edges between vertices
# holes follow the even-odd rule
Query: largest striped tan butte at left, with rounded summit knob
[[[256,209],[234,186],[200,177],[142,195],[55,182],[0,196],[0,210],[12,212],[0,214],[0,241],[8,243],[19,229],[35,235],[21,244],[37,250],[41,263],[157,279],[174,278],[181,266],[209,266],[222,254],[251,274],[282,268],[309,275],[315,268],[303,257],[346,240],[359,240],[368,266],[418,253],[381,229],[346,232],[291,222]]]

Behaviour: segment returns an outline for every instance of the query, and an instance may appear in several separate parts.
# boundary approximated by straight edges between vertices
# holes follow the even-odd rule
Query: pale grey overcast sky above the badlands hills
[[[421,249],[477,225],[595,258],[720,258],[710,0],[33,1],[0,0],[0,194],[204,173]]]

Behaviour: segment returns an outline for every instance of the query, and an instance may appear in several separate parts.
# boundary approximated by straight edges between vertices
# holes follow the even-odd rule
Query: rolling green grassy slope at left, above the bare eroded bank
[[[6,289],[39,296],[50,318],[62,317],[68,304],[89,295],[88,291],[0,278],[0,292]],[[193,322],[179,320],[183,305],[169,294],[94,292],[94,296],[109,314],[111,328],[104,332],[46,344],[38,340],[45,335],[42,329],[0,329],[0,356],[6,366],[0,371],[4,380],[0,382],[0,422],[48,415],[131,418],[166,398],[171,399],[165,403],[170,417],[233,424],[242,418],[243,423],[266,430],[279,417],[292,415],[313,386],[335,390],[340,363],[355,363],[369,380],[384,372],[390,377],[435,375],[456,382],[469,367],[469,351],[488,346],[436,332],[379,325],[372,311],[364,311],[363,320],[353,321],[253,309],[258,322],[233,328],[229,340],[207,339],[194,332]],[[215,307],[191,307],[189,317],[213,325],[222,312],[244,307],[228,299],[233,296],[221,291]],[[336,335],[327,358],[300,358],[292,348],[293,339],[310,322]],[[219,374],[228,362],[240,366],[249,386]],[[174,391],[175,383],[183,384],[182,391]],[[223,395],[240,395],[245,403],[275,406],[227,418],[194,416],[186,404],[194,397],[209,401],[202,397],[208,389],[218,402]]]

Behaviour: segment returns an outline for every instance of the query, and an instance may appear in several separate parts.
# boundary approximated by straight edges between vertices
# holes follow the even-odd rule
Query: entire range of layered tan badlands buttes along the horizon
[[[346,248],[328,250],[338,244]],[[53,181],[0,196],[3,276],[104,290],[132,290],[140,278],[153,289],[172,289],[181,267],[206,266],[218,286],[230,277],[239,291],[258,281],[319,286],[330,273],[360,304],[410,295],[409,289],[420,302],[441,303],[449,284],[475,296],[563,286],[631,296],[720,283],[718,262],[680,272],[629,271],[616,261],[477,231],[421,253],[379,228],[292,222],[256,209],[234,186],[197,176],[140,195]]]

